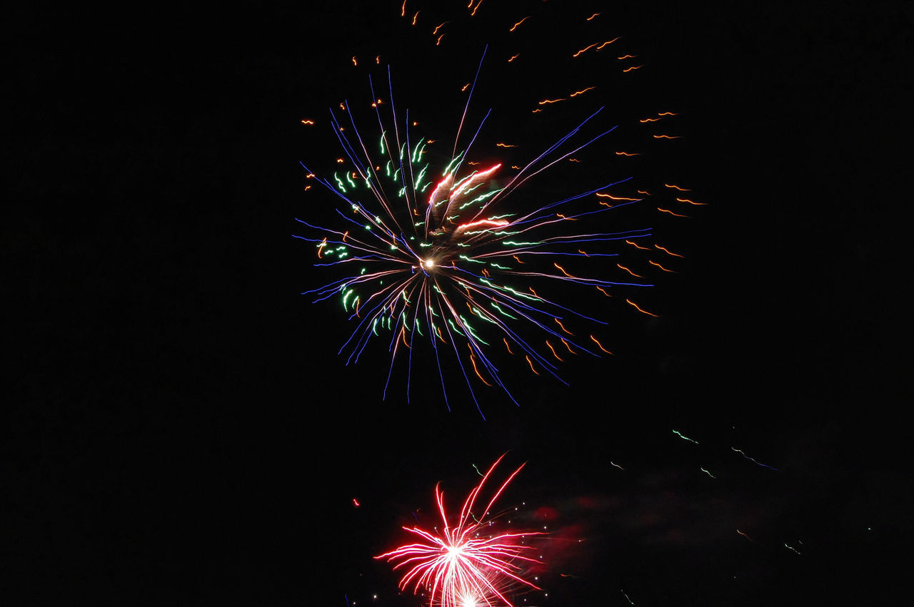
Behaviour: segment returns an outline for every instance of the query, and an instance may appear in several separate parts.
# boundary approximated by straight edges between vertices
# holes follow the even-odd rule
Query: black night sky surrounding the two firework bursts
[[[435,524],[436,483],[455,503],[503,454],[526,467],[499,504],[550,531],[548,596],[516,605],[894,596],[914,505],[910,7],[486,0],[412,27],[373,4],[6,18],[0,602],[419,605],[372,557]],[[531,129],[529,101],[579,81],[558,57],[597,11],[644,67],[591,70],[590,101]],[[508,78],[503,25],[526,15],[561,18],[531,19]],[[452,133],[462,97],[439,91],[487,43],[488,149],[538,151],[596,99],[636,147],[624,125],[675,110],[681,139],[632,174],[707,205],[621,219],[685,259],[643,296],[659,318],[607,312],[615,356],[572,357],[569,385],[504,361],[519,406],[475,384],[481,414],[456,378],[449,411],[414,361],[409,402],[405,364],[382,401],[386,341],[345,366],[354,326],[300,295],[334,275],[294,218],[336,201],[299,162],[332,166],[327,108],[370,102],[386,62],[400,106]],[[579,190],[561,171],[542,187]]]

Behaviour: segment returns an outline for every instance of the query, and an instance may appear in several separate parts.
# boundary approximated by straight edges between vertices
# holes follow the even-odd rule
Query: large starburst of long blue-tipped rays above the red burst
[[[341,298],[356,322],[340,349],[349,351],[347,364],[358,361],[368,342],[388,331],[391,356],[385,396],[401,353],[409,360],[409,395],[414,350],[424,342],[431,348],[419,356],[436,361],[445,403],[448,390],[442,368],[447,365],[442,359],[457,361],[474,401],[473,376],[502,388],[514,400],[492,357],[493,347],[516,355],[528,372],[553,375],[559,381],[563,357],[609,352],[586,325],[576,330],[569,324],[605,321],[560,303],[558,296],[569,297],[572,287],[603,298],[613,289],[652,286],[621,264],[606,264],[607,258],[619,254],[605,250],[610,243],[637,246],[649,239],[651,229],[612,231],[600,226],[607,213],[641,198],[610,194],[613,186],[629,181],[627,177],[601,176],[597,187],[571,185],[569,193],[545,200],[528,184],[615,129],[587,134],[602,108],[576,120],[571,131],[527,158],[523,166],[508,170],[494,162],[475,168],[480,163],[472,161],[473,143],[489,114],[472,137],[464,136],[471,88],[452,149],[444,156],[429,154],[440,163],[436,169],[425,156],[437,140],[416,132],[409,111],[405,123],[398,120],[389,68],[387,100],[375,94],[373,84],[371,93],[381,131],[377,150],[363,141],[353,111],[344,103],[340,109],[348,114],[348,123],[339,120],[339,110],[331,110],[331,117],[350,168],[330,179],[303,165],[310,178],[344,202],[337,214],[345,228],[324,228],[299,219],[324,235],[296,236],[314,243],[318,266],[348,269],[345,277],[306,292],[315,301]],[[389,110],[382,112],[385,106]],[[392,124],[385,127],[386,121]],[[459,151],[461,144],[465,147]],[[441,175],[437,183],[430,179],[435,171]],[[597,277],[608,270],[612,276]]]

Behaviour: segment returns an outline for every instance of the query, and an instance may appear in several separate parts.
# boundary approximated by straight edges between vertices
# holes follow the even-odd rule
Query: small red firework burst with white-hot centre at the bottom
[[[483,479],[463,502],[456,519],[449,518],[444,508],[444,494],[435,487],[435,502],[441,515],[441,530],[404,527],[418,536],[416,543],[400,546],[376,559],[396,561],[394,569],[409,567],[399,582],[401,590],[410,586],[415,593],[429,592],[430,605],[441,607],[494,607],[512,603],[506,598],[508,588],[516,585],[539,590],[536,584],[522,577],[525,566],[540,561],[527,556],[532,547],[526,539],[542,533],[515,531],[493,533],[494,518],[490,509],[524,466],[518,467],[494,492],[485,508],[476,510],[476,500],[485,482],[502,457],[489,468]]]

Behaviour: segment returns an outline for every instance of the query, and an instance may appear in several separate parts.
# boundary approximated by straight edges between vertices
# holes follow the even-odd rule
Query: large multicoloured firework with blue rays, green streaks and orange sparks
[[[569,58],[596,54],[611,42]],[[602,124],[603,107],[580,104],[594,87],[582,86],[569,99],[528,103],[533,112],[559,102],[586,108],[573,119],[567,111],[558,114],[561,120],[553,113],[533,127],[536,137],[530,139],[544,142],[529,152],[532,145],[495,142],[486,135],[492,110],[468,120],[486,65],[486,52],[482,55],[459,89],[462,110],[452,116],[453,134],[429,132],[410,119],[409,110],[398,110],[388,67],[380,87],[369,76],[370,102],[344,101],[330,109],[330,125],[344,152],[336,170],[313,172],[303,162],[309,185],[319,183],[341,203],[335,210],[339,225],[298,219],[311,232],[295,237],[314,245],[316,266],[345,270],[305,294],[315,302],[339,298],[355,324],[339,351],[346,364],[358,361],[369,342],[387,347],[385,398],[395,362],[405,359],[408,399],[414,362],[420,361],[434,365],[449,408],[447,376],[454,372],[462,375],[477,408],[476,391],[483,384],[516,403],[515,386],[501,372],[503,360],[510,357],[519,372],[562,381],[558,365],[567,357],[611,354],[606,338],[594,330],[607,324],[606,298],[654,316],[638,306],[633,293],[652,287],[652,274],[671,271],[651,259],[651,265],[641,259],[634,267],[627,261],[632,253],[675,254],[654,245],[651,227],[611,220],[624,213],[622,207],[642,204],[648,193],[630,183],[624,168],[577,168],[588,155],[594,162],[638,155],[593,152],[616,130]],[[379,58],[371,63],[379,65]],[[360,131],[364,122],[355,115],[360,112],[373,114],[376,134]],[[562,122],[566,126],[559,127]],[[503,128],[495,125],[497,131]],[[544,172],[559,174],[544,183]],[[582,305],[587,302],[595,311]]]

